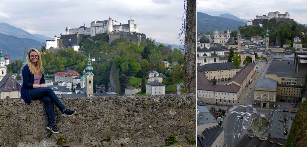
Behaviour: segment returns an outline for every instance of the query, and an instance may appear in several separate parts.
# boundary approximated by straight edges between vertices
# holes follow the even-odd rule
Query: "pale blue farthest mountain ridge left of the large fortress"
[[[2,34],[7,34],[7,35],[13,35],[19,38],[29,38],[29,39],[34,39],[40,42],[43,42],[43,44],[45,44],[46,40],[50,40],[52,38],[50,37],[46,37],[43,35],[39,35],[39,34],[31,34],[23,29],[17,28],[13,25],[9,25],[7,23],[1,22],[0,23],[0,33]],[[47,39],[48,38],[48,39]]]

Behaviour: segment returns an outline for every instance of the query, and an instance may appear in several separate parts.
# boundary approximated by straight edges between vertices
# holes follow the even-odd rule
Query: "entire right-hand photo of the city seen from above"
[[[197,147],[306,146],[303,6],[197,1],[196,9]]]

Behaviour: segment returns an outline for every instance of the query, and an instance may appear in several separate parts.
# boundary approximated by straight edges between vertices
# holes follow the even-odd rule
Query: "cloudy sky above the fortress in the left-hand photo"
[[[134,20],[146,37],[179,44],[183,13],[183,0],[0,0],[0,22],[47,37],[110,16],[122,24]]]

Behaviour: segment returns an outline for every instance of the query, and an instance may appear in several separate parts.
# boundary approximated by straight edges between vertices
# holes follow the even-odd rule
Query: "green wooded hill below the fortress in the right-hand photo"
[[[281,46],[282,44],[291,44],[293,46],[294,37],[301,37],[303,41],[303,47],[307,46],[307,37],[303,36],[301,32],[306,34],[307,28],[304,25],[297,24],[295,21],[292,24],[279,21],[276,23],[276,19],[270,19],[264,21],[262,27],[259,25],[250,27],[250,26],[240,26],[240,32],[242,37],[252,37],[252,36],[264,36],[266,34],[266,29],[270,30],[269,32],[269,42],[274,43],[275,45]]]

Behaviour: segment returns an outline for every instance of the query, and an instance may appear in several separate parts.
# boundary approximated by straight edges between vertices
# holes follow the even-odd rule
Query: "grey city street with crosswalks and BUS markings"
[[[226,114],[223,120],[223,128],[225,128],[225,144],[228,147],[233,147],[238,143],[238,141],[244,136],[244,134],[249,133],[252,134],[249,129],[251,125],[251,121],[253,118],[257,117],[257,115],[265,114],[266,117],[271,120],[272,111],[271,108],[259,108],[253,105],[254,102],[254,87],[262,74],[262,70],[266,67],[266,62],[259,62],[257,67],[257,72],[255,76],[253,76],[251,85],[246,87],[241,96],[238,99],[237,105],[232,107],[229,106],[218,106],[218,105],[207,105],[208,109],[211,107],[219,107],[221,109],[226,110]],[[222,82],[220,84],[223,84]],[[290,113],[293,106],[296,103],[291,105],[290,103],[282,103],[277,102],[276,105],[280,105],[281,107],[275,107],[275,109],[289,110],[289,122],[288,125],[291,125],[292,120],[295,116],[295,113]],[[229,112],[227,112],[227,108],[229,107]],[[299,104],[296,108],[299,107]],[[241,119],[241,115],[243,114],[243,118]],[[248,131],[247,131],[248,130]],[[290,127],[288,127],[288,132],[290,131]],[[259,136],[259,134],[257,134]]]

